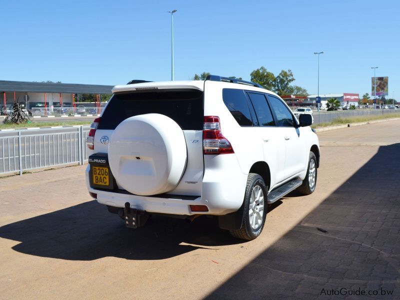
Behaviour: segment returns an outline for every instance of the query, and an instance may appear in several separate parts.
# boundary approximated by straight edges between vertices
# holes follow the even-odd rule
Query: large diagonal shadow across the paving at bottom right
[[[380,146],[301,222],[207,298],[354,299],[348,290],[358,289],[378,293],[371,298],[399,298],[398,153],[400,143]],[[347,294],[328,293],[340,288]]]

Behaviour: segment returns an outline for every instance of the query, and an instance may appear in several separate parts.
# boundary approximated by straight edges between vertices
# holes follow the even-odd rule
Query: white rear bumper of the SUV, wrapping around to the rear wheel
[[[240,208],[245,191],[247,174],[242,173],[234,154],[204,155],[202,193],[199,196],[140,196],[121,190],[102,190],[91,188],[89,169],[86,167],[86,185],[89,192],[97,194],[97,202],[113,207],[131,208],[147,212],[193,215],[223,215]],[[206,205],[208,211],[192,212],[189,205]]]

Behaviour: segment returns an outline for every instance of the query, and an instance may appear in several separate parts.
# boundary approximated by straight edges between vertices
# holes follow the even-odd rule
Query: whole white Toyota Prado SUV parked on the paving
[[[219,227],[254,239],[267,204],[315,189],[318,137],[257,83],[206,80],[117,85],[86,144],[90,195],[136,228],[150,214],[218,216]]]

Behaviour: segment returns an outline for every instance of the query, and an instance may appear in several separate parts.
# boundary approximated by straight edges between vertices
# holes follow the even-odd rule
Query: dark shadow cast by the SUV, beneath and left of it
[[[164,259],[243,242],[220,230],[216,217],[188,223],[152,215],[144,227],[126,228],[118,215],[95,200],[4,225],[0,237],[20,241],[12,247],[15,251],[68,260]]]

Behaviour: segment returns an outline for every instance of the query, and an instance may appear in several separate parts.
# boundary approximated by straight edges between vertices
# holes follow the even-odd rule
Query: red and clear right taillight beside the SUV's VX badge
[[[234,153],[229,141],[222,135],[219,117],[204,116],[203,153],[228,154]]]

